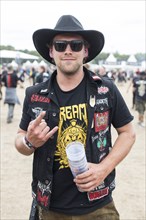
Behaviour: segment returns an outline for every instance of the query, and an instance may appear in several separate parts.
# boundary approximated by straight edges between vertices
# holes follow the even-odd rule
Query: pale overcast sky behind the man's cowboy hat
[[[105,36],[102,52],[146,53],[146,1],[13,1],[1,0],[1,45],[35,50],[32,34],[54,28],[63,14],[74,15],[84,29]]]

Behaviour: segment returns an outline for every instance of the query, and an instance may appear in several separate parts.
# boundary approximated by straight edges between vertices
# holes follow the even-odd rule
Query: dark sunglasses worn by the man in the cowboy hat
[[[53,42],[55,50],[58,52],[64,52],[68,44],[70,48],[72,49],[72,51],[79,52],[82,50],[83,45],[85,45],[85,41],[83,40],[71,40],[71,41],[56,40]]]

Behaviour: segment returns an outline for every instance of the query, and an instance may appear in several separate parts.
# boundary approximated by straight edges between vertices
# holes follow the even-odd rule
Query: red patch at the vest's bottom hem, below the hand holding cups
[[[108,194],[109,194],[109,187],[87,193],[88,199],[90,202],[97,200],[97,199],[101,199],[104,196],[107,196]]]

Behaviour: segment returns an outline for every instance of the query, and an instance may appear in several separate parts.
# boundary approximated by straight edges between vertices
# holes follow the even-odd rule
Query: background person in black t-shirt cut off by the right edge
[[[135,105],[138,112],[138,124],[145,127],[144,114],[146,110],[146,71],[141,71],[134,82]]]

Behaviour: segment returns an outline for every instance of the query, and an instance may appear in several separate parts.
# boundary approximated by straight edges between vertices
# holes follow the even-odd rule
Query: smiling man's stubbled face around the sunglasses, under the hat
[[[83,41],[83,38],[79,35],[60,34],[53,39],[53,42],[74,40]],[[65,75],[73,75],[82,68],[83,60],[88,56],[88,49],[83,45],[80,51],[74,51],[70,44],[67,44],[65,50],[60,52],[53,45],[50,49],[50,56],[54,59],[58,71]]]

